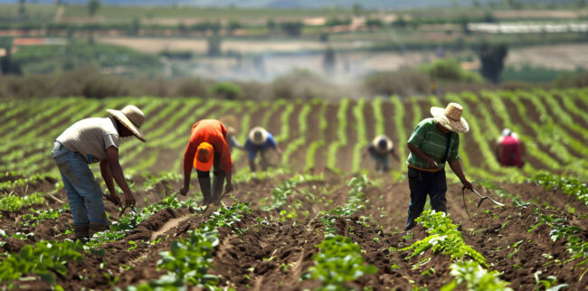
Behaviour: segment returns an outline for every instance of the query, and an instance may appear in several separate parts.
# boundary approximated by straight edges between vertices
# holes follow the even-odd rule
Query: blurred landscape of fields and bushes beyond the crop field
[[[0,0],[0,97],[588,85],[586,0]]]

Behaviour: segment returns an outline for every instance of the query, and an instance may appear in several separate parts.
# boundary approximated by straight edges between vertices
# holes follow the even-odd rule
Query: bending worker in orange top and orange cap
[[[219,201],[223,195],[224,179],[227,181],[225,193],[232,192],[232,160],[227,144],[227,130],[216,119],[203,119],[194,124],[190,141],[184,154],[184,186],[180,194],[190,189],[192,167],[196,168],[198,183],[204,196],[203,205]],[[210,169],[214,166],[213,189],[211,192]]]

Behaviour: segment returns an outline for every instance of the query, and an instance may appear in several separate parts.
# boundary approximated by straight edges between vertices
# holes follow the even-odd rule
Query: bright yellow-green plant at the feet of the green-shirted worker
[[[399,251],[413,249],[413,254],[407,258],[413,258],[432,248],[434,253],[441,252],[444,255],[450,255],[452,260],[468,256],[488,268],[486,259],[463,241],[460,230],[457,225],[453,224],[449,215],[444,212],[423,211],[416,221],[422,223],[429,236],[416,241],[407,248],[400,249]]]

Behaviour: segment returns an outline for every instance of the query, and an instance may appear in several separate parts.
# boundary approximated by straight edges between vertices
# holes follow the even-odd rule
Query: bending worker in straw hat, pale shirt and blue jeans
[[[52,156],[62,174],[76,239],[86,240],[109,228],[103,193],[88,164],[100,162],[100,173],[110,192],[106,196],[109,201],[120,205],[112,183],[114,178],[125,195],[125,205],[135,205],[135,197],[119,163],[119,139],[137,136],[145,142],[145,136],[139,130],[145,116],[133,105],[106,111],[111,117],[81,119],[65,129],[53,144]]]

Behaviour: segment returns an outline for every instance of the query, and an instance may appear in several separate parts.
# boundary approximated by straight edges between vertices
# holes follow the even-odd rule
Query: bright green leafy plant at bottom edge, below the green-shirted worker
[[[450,275],[455,278],[442,286],[441,291],[454,290],[462,284],[465,284],[468,290],[512,291],[512,288],[508,287],[508,282],[500,280],[498,271],[488,272],[473,260],[453,263],[450,268]]]

